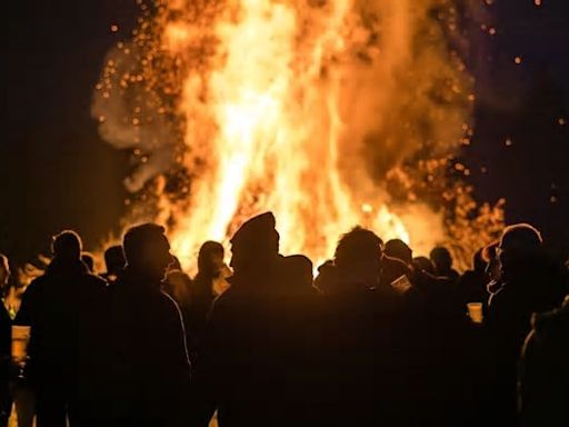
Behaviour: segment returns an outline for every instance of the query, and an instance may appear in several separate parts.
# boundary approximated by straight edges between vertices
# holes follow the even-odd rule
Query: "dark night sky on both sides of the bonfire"
[[[561,247],[569,241],[569,1],[488,2],[487,29],[471,28],[476,135],[461,158],[480,201],[506,198],[509,221],[531,221]],[[0,252],[16,261],[46,252],[63,228],[77,229],[88,249],[118,231],[128,153],[100,139],[89,110],[104,54],[128,37],[137,11],[134,0],[10,4]]]

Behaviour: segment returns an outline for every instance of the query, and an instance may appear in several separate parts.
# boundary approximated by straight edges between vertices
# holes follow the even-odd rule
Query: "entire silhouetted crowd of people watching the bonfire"
[[[0,426],[12,407],[38,427],[569,425],[568,266],[536,228],[507,227],[462,275],[443,247],[413,258],[356,227],[315,278],[270,212],[230,244],[230,266],[203,244],[190,278],[144,224],[96,275],[57,235],[14,318],[0,307]],[[18,366],[13,325],[30,328]]]

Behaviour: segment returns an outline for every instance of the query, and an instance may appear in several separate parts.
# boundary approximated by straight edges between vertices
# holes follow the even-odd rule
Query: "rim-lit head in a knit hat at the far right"
[[[497,249],[502,271],[507,272],[513,265],[526,262],[538,254],[542,241],[541,234],[529,224],[506,227]]]

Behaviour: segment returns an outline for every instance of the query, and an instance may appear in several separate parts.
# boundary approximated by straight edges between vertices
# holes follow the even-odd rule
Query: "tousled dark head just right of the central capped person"
[[[335,265],[343,271],[371,278],[381,267],[383,241],[370,230],[356,227],[340,238]]]

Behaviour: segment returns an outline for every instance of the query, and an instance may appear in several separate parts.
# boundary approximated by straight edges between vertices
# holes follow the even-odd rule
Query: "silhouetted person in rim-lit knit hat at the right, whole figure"
[[[486,318],[496,404],[492,413],[497,423],[515,425],[517,363],[530,318],[562,302],[567,271],[545,252],[539,231],[526,224],[505,229],[498,254],[501,286],[490,298]]]

